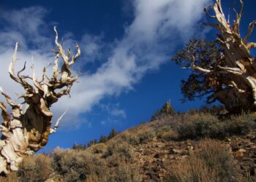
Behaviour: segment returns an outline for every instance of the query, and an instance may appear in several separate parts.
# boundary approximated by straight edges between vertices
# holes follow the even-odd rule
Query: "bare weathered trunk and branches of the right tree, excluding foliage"
[[[236,19],[230,23],[229,15],[225,18],[222,12],[221,1],[211,6],[215,15],[206,14],[217,20],[217,23],[205,23],[217,28],[219,35],[217,40],[223,50],[223,55],[217,65],[211,69],[204,69],[195,66],[195,60],[192,61],[192,68],[196,71],[203,72],[209,76],[227,74],[229,80],[218,85],[217,92],[208,97],[208,103],[219,100],[231,113],[241,112],[242,110],[256,111],[256,64],[255,58],[250,54],[250,50],[256,47],[256,43],[248,42],[256,21],[249,25],[248,33],[241,38],[239,25],[243,12],[243,1],[241,1],[241,10],[236,12]],[[219,66],[219,62],[225,62],[225,66]]]

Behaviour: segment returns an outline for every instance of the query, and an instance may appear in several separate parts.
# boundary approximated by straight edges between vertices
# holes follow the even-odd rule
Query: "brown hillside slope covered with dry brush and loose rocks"
[[[256,181],[254,114],[163,114],[104,143],[27,157],[2,181]]]

